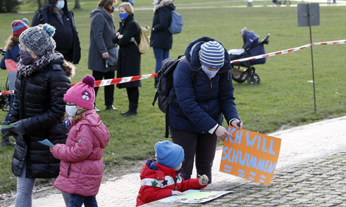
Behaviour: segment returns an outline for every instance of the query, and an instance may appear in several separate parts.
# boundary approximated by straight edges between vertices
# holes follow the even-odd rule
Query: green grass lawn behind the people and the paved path
[[[120,1],[121,2],[121,1]],[[183,3],[209,2],[208,0],[182,0]],[[261,2],[255,1],[256,4]],[[78,82],[84,75],[91,74],[87,68],[89,50],[89,12],[96,8],[97,1],[82,1],[82,10],[75,10],[75,25],[78,29],[82,59],[76,66],[77,73],[73,82]],[[297,8],[263,7],[263,8],[224,8],[229,5],[246,5],[244,2],[213,3],[215,8],[183,9],[176,11],[183,15],[185,26],[181,34],[174,35],[170,57],[181,55],[188,43],[202,36],[213,37],[229,50],[242,48],[243,40],[239,31],[246,27],[260,35],[260,39],[271,33],[266,52],[275,52],[295,48],[310,42],[309,28],[298,28]],[[264,3],[262,2],[262,5]],[[267,1],[267,5],[270,1]],[[207,6],[207,4],[203,4]],[[135,1],[135,19],[141,26],[152,26],[152,10],[139,10],[152,7],[152,0]],[[73,4],[69,5],[73,8]],[[136,10],[138,8],[138,10]],[[181,8],[181,9],[179,9]],[[22,6],[21,12],[34,11],[35,6]],[[114,13],[116,30],[119,28],[118,14]],[[0,46],[5,46],[11,32],[14,19],[26,17],[31,21],[31,13],[0,14]],[[345,7],[320,7],[320,26],[312,28],[313,42],[346,39],[346,28],[340,24],[345,19]],[[346,114],[345,69],[346,46],[314,46],[313,59],[316,79],[316,105],[313,108],[313,85],[310,49],[291,52],[286,55],[269,57],[264,65],[255,66],[260,75],[258,86],[247,83],[235,85],[235,98],[239,116],[244,121],[244,128],[255,132],[274,132],[282,126],[309,124],[321,119],[340,117]],[[142,74],[154,73],[155,59],[150,49],[142,56]],[[0,85],[6,82],[7,73],[0,71]],[[120,112],[101,112],[100,117],[111,132],[109,146],[104,150],[106,170],[120,165],[129,165],[138,159],[154,156],[154,144],[164,138],[165,115],[158,107],[152,106],[154,98],[154,79],[145,79],[140,88],[138,116],[123,118],[120,112],[127,110],[126,90],[115,90],[114,106]],[[104,92],[99,91],[98,108],[104,110]],[[3,120],[6,112],[0,112]],[[0,193],[15,189],[15,176],[10,170],[13,148],[0,147]]]

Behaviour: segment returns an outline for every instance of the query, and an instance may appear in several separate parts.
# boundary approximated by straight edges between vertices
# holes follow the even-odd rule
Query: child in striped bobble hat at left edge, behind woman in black
[[[15,90],[15,82],[17,78],[17,61],[19,60],[19,35],[28,29],[28,25],[20,20],[15,20],[12,22],[12,34],[8,38],[8,42],[5,46],[5,55],[1,59],[0,68],[6,69],[8,71],[8,90]],[[8,108],[8,113],[3,121],[2,125],[8,125],[8,117],[10,116],[11,108],[15,95],[10,94],[10,105]],[[10,130],[1,130],[1,146],[15,146],[15,144],[10,141]]]

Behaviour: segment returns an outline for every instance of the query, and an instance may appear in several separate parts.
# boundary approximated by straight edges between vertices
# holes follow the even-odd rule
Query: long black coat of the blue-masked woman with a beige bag
[[[123,34],[121,39],[114,35],[113,42],[120,46],[118,53],[118,70],[116,77],[129,77],[140,75],[140,52],[131,38],[134,37],[136,42],[140,43],[140,27],[134,20],[134,14],[129,15],[125,21],[120,22],[118,30]],[[140,81],[131,81],[116,85],[118,88],[131,88],[141,86]]]

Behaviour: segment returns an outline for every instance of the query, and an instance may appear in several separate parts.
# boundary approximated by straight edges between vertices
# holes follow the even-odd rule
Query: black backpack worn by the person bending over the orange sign
[[[190,62],[188,59],[183,57],[183,55],[179,55],[178,58],[176,59],[164,59],[162,62],[162,68],[161,70],[158,71],[158,83],[157,83],[157,90],[155,93],[154,101],[152,102],[152,106],[155,105],[155,102],[157,100],[157,105],[158,108],[162,112],[166,114],[165,119],[166,119],[166,130],[165,130],[165,137],[168,138],[168,126],[169,126],[169,114],[170,112],[168,109],[170,108],[170,101],[174,99],[175,94],[171,97],[170,96],[170,91],[173,88],[173,72],[176,66],[180,61],[184,61],[185,63],[190,66]],[[174,88],[173,88],[174,90]]]

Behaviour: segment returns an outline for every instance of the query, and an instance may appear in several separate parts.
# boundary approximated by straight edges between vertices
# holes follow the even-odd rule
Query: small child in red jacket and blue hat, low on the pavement
[[[182,161],[184,150],[170,141],[158,141],[155,144],[156,159],[148,159],[140,171],[140,189],[136,206],[142,206],[172,195],[184,195],[190,189],[206,188],[208,176],[184,180]]]

